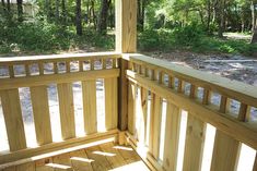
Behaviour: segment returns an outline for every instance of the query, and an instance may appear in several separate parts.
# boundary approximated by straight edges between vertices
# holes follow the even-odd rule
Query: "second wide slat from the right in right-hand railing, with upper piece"
[[[190,98],[196,98],[197,87],[191,85]],[[206,136],[206,123],[188,112],[183,170],[200,170]]]

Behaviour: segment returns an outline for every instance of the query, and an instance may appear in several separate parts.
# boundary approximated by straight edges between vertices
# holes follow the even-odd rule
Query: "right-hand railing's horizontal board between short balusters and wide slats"
[[[257,130],[254,125],[240,122],[237,119],[229,114],[223,114],[212,109],[211,106],[202,106],[202,103],[199,103],[197,100],[178,94],[166,86],[159,85],[157,83],[132,71],[127,71],[127,76],[130,82],[137,82],[140,86],[170,100],[177,107],[190,110],[192,115],[212,124],[218,130],[231,135],[233,138],[243,142],[255,149],[257,148]]]

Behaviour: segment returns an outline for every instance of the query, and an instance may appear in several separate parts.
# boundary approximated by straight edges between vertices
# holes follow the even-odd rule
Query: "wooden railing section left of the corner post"
[[[0,68],[8,72],[0,77],[0,97],[10,150],[0,151],[0,164],[47,151],[84,144],[116,135],[119,54],[114,52],[58,54],[46,57],[2,58]],[[16,68],[20,68],[17,72]],[[103,78],[105,94],[105,129],[97,131],[96,80]],[[72,83],[82,87],[84,132],[75,136]],[[54,143],[47,87],[56,84],[62,142]],[[24,132],[19,88],[28,87],[38,147],[28,148]],[[0,137],[1,138],[1,137]],[[92,141],[91,141],[92,142]],[[0,145],[1,146],[1,145]]]

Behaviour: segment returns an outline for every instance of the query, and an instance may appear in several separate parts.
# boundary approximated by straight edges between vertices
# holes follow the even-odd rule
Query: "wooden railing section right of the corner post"
[[[136,149],[140,145],[147,147],[145,161],[153,168],[176,170],[183,110],[188,112],[184,171],[201,170],[207,123],[217,129],[211,171],[236,170],[242,143],[257,149],[256,87],[142,54],[122,58],[129,62],[127,137]],[[164,102],[166,111],[162,109]],[[232,110],[232,103],[238,108]]]

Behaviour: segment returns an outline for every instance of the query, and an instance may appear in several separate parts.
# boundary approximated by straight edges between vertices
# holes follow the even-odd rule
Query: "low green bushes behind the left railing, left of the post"
[[[37,21],[33,23],[15,23],[7,26],[0,23],[0,52],[55,52],[75,49],[84,45],[113,49],[114,36],[100,36],[86,29],[82,37],[75,35],[74,27],[62,26]]]

